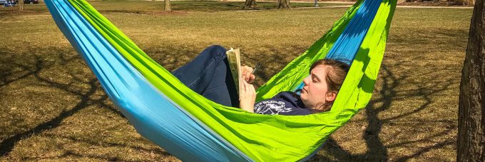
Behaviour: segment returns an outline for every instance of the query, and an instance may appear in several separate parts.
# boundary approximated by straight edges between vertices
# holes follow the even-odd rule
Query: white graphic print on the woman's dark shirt
[[[255,105],[255,113],[260,114],[279,114],[292,111],[292,108],[285,107],[283,101],[261,101]]]

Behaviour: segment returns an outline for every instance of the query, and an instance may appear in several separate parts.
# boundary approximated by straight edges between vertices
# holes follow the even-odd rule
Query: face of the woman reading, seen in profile
[[[306,108],[318,109],[322,104],[335,100],[337,93],[328,91],[327,70],[331,69],[325,65],[315,66],[310,72],[310,76],[303,79],[305,86],[302,88],[300,98]]]

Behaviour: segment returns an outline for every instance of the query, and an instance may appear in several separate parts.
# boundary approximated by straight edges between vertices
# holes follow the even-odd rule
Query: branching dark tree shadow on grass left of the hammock
[[[2,49],[0,51],[5,50]],[[48,49],[48,51],[58,51],[58,60],[60,60],[61,64],[67,64],[70,61],[79,59],[77,56],[66,57],[61,49]],[[104,102],[108,98],[106,95],[101,96],[101,98],[93,99],[93,94],[98,91],[99,88],[97,79],[91,78],[89,79],[89,81],[83,81],[83,79],[80,79],[75,74],[69,72],[68,74],[72,77],[70,83],[56,82],[52,79],[49,79],[48,76],[41,75],[41,71],[47,71],[48,68],[56,66],[55,63],[45,61],[45,58],[42,58],[41,56],[34,55],[33,66],[29,66],[29,64],[26,64],[26,62],[24,62],[24,60],[15,58],[13,56],[2,56],[6,57],[1,58],[1,64],[3,66],[7,66],[8,69],[4,69],[0,73],[0,78],[2,79],[0,87],[9,86],[10,83],[14,83],[15,81],[19,81],[20,79],[25,79],[26,77],[33,76],[36,81],[42,84],[42,86],[48,86],[50,88],[56,88],[58,90],[65,91],[67,93],[70,93],[71,95],[77,96],[80,101],[78,101],[78,103],[76,103],[73,108],[62,111],[60,114],[58,114],[58,116],[56,116],[55,118],[51,118],[51,120],[49,121],[45,121],[44,123],[41,123],[40,125],[29,129],[28,131],[16,133],[13,136],[2,139],[0,143],[0,155],[8,155],[10,151],[14,148],[15,144],[18,141],[21,141],[22,138],[27,138],[34,133],[42,133],[44,131],[56,128],[61,124],[64,119],[91,105],[98,105],[103,108],[108,108],[114,113],[118,114],[118,116],[123,117],[123,115],[118,110],[116,110],[116,108],[113,108],[113,106],[109,106]],[[12,71],[12,69],[21,70]],[[89,88],[86,89],[83,87],[74,86],[72,84],[73,82],[87,84]]]

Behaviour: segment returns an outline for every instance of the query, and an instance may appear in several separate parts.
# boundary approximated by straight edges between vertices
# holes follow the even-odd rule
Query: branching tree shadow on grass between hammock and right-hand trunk
[[[399,66],[396,65],[396,66]],[[333,138],[329,138],[326,142],[322,150],[327,153],[330,153],[332,156],[327,157],[324,155],[317,154],[315,157],[310,159],[310,161],[407,161],[412,158],[417,158],[421,156],[423,153],[427,153],[428,151],[432,151],[433,149],[437,148],[444,148],[445,146],[454,146],[455,140],[453,138],[448,138],[447,140],[441,141],[439,143],[435,143],[432,141],[433,138],[443,138],[449,136],[449,132],[453,129],[456,129],[456,126],[453,126],[455,123],[451,120],[443,120],[443,119],[424,119],[424,120],[414,120],[414,123],[394,123],[399,119],[406,118],[407,116],[411,116],[417,113],[422,112],[424,109],[428,108],[428,106],[433,103],[434,101],[430,96],[436,95],[448,89],[450,86],[454,85],[455,83],[453,80],[449,79],[446,81],[441,81],[442,86],[439,88],[430,87],[430,86],[421,86],[414,90],[401,91],[397,92],[396,89],[398,86],[402,86],[402,81],[409,79],[410,76],[407,75],[406,71],[400,72],[400,77],[394,76],[393,72],[389,70],[388,66],[382,65],[382,70],[380,72],[382,76],[382,85],[380,87],[376,87],[374,93],[379,93],[381,97],[372,99],[367,107],[364,109],[366,118],[365,121],[355,121],[355,122],[366,122],[367,128],[365,131],[362,132],[362,136],[365,141],[365,145],[367,146],[367,151],[362,154],[352,154],[349,151],[344,150],[342,146],[339,146],[339,143],[335,141]],[[420,75],[439,75],[435,74],[434,72],[424,72]],[[439,76],[435,79],[441,79]],[[411,98],[411,97],[419,97],[424,100],[420,106],[409,110],[409,107],[406,107],[406,113],[397,114],[395,116],[387,116],[387,117],[379,117],[379,113],[388,110],[393,101],[401,100],[404,98]],[[392,144],[384,144],[382,142],[382,137],[379,137],[382,126],[384,124],[392,125],[392,126],[414,126],[416,124],[420,126],[427,126],[429,123],[444,123],[448,126],[443,128],[443,131],[438,132],[430,132],[428,136],[424,136],[419,140],[408,140],[402,141],[399,143],[392,143]],[[409,133],[409,132],[398,132],[398,133]],[[389,137],[387,137],[389,138]],[[396,148],[402,146],[409,146],[417,143],[433,143],[429,146],[420,147],[417,151],[413,151],[409,155],[405,156],[394,156],[394,159],[389,158],[388,149],[389,148]]]

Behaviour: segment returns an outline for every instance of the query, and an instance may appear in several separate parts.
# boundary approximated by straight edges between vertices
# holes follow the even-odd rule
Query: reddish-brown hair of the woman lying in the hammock
[[[331,59],[320,59],[319,61],[316,61],[315,63],[312,64],[312,66],[310,67],[310,73],[312,69],[320,65],[328,66],[330,69],[330,70],[327,70],[325,74],[328,91],[338,92],[342,87],[342,83],[344,83],[345,76],[347,76],[350,66],[348,64],[345,64],[342,61],[331,60]],[[332,104],[333,104],[333,101],[332,103],[322,104],[322,109],[320,110],[320,112],[330,111],[330,108],[332,108]]]

